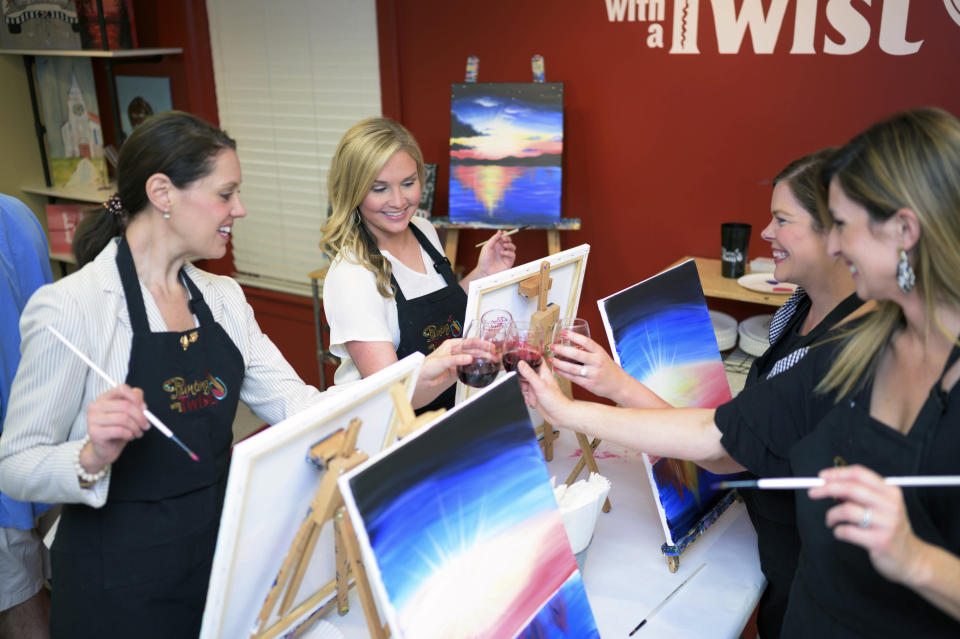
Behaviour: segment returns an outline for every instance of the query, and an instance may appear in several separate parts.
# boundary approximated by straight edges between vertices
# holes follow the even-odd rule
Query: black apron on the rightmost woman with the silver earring
[[[872,387],[868,385],[856,397],[841,400],[815,431],[797,443],[790,454],[794,474],[815,476],[838,463],[863,464],[885,477],[924,474],[923,462],[938,427],[956,427],[942,419],[949,402],[942,381],[958,357],[960,347],[955,346],[906,435],[870,416]],[[904,488],[903,498],[913,532],[929,543],[948,547],[921,494],[944,490],[956,489]],[[833,537],[824,525],[833,500],[811,500],[798,492],[796,501],[803,541],[782,637],[960,636],[960,623],[913,590],[882,577],[865,549]]]

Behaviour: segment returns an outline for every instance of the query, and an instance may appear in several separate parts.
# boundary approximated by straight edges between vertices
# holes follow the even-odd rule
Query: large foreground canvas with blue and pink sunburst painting
[[[597,637],[516,375],[340,478],[393,637]]]

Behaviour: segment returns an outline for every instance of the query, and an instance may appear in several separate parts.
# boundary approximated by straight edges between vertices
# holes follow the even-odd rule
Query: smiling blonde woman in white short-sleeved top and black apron
[[[510,268],[516,258],[513,241],[497,231],[458,283],[436,230],[414,217],[423,175],[420,148],[402,125],[387,118],[357,123],[333,157],[333,210],[321,241],[333,260],[323,308],[330,350],[342,360],[334,383],[419,351],[430,356],[413,397],[421,411],[453,406],[455,366],[469,356],[451,355],[448,340],[463,331],[469,282]]]

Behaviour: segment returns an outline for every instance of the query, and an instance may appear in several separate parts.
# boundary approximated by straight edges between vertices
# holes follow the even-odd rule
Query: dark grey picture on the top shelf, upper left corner
[[[79,49],[74,0],[0,0],[4,49]]]

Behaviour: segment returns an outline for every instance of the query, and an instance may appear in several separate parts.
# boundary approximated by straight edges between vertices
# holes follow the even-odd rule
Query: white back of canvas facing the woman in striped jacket
[[[373,455],[395,441],[399,418],[389,389],[402,384],[411,397],[423,359],[413,353],[366,379],[335,387],[320,403],[234,446],[202,639],[250,636],[323,479],[323,471],[307,460],[310,447],[337,429],[346,429],[355,417],[362,421],[360,450]],[[320,532],[294,607],[310,599],[316,603],[291,627],[336,596],[320,594],[335,576],[333,526],[328,523]],[[278,619],[275,608],[267,627]]]

